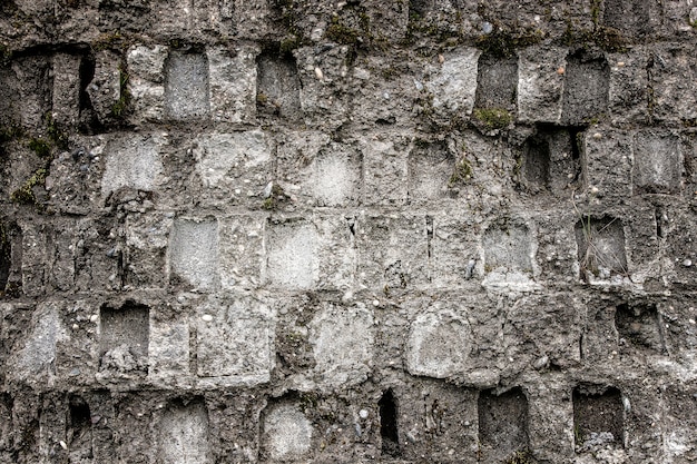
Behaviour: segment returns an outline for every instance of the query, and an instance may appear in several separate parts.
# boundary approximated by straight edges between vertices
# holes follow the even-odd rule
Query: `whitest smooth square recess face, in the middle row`
[[[311,223],[269,223],[266,233],[268,280],[281,287],[312,288],[320,273],[318,240]]]

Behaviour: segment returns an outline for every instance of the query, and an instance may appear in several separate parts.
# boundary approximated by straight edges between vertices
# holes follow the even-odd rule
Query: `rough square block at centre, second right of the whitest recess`
[[[356,244],[362,285],[389,290],[429,282],[425,216],[360,216]]]

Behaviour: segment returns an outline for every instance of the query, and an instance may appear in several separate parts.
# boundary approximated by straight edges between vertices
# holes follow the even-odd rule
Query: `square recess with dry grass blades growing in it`
[[[610,274],[627,274],[625,229],[612,217],[583,217],[576,224],[576,241],[581,276],[587,272],[600,278]]]

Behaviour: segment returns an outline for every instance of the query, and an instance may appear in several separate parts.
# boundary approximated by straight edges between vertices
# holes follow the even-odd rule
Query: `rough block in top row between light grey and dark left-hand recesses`
[[[248,122],[256,116],[255,48],[212,47],[208,59],[210,115],[214,121]]]

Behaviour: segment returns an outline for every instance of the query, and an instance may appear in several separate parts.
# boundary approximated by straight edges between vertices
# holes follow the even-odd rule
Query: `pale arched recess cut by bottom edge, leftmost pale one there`
[[[213,463],[208,412],[203,401],[170,404],[159,426],[158,458],[173,464]]]

